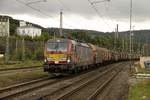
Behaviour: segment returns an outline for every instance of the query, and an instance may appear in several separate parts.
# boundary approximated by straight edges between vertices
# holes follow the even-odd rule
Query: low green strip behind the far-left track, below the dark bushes
[[[32,66],[42,66],[42,61],[36,61],[36,60],[27,60],[27,61],[16,61],[16,62],[10,62],[9,64],[2,63],[3,61],[0,60],[0,69],[10,69],[10,68],[22,68],[22,67],[32,67]]]

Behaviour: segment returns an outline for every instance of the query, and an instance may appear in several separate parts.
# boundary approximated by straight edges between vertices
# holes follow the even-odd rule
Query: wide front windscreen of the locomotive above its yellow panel
[[[47,44],[48,51],[67,51],[67,43],[65,42],[49,42]]]

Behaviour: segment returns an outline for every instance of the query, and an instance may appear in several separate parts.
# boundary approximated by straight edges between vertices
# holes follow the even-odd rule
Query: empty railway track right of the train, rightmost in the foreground
[[[117,75],[118,71],[116,72],[114,70],[116,69],[112,68],[96,75],[94,78],[91,78],[74,89],[67,91],[65,94],[54,100],[71,100],[73,98],[74,100],[95,100],[96,95],[99,94],[100,91],[104,89],[104,87],[107,86],[107,84],[109,84],[109,82]],[[106,75],[108,73],[109,75]]]

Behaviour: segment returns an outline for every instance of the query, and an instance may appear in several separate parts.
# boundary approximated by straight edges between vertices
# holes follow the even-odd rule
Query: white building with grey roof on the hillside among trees
[[[17,28],[17,33],[19,35],[28,35],[32,38],[35,36],[41,36],[41,29],[34,27],[32,25],[26,25],[24,21],[20,21],[20,27]]]

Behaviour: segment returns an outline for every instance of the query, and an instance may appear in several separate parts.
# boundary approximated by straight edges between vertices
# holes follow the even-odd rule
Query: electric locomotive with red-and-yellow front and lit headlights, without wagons
[[[94,63],[91,47],[70,39],[48,40],[44,57],[44,71],[50,73],[78,72]]]

